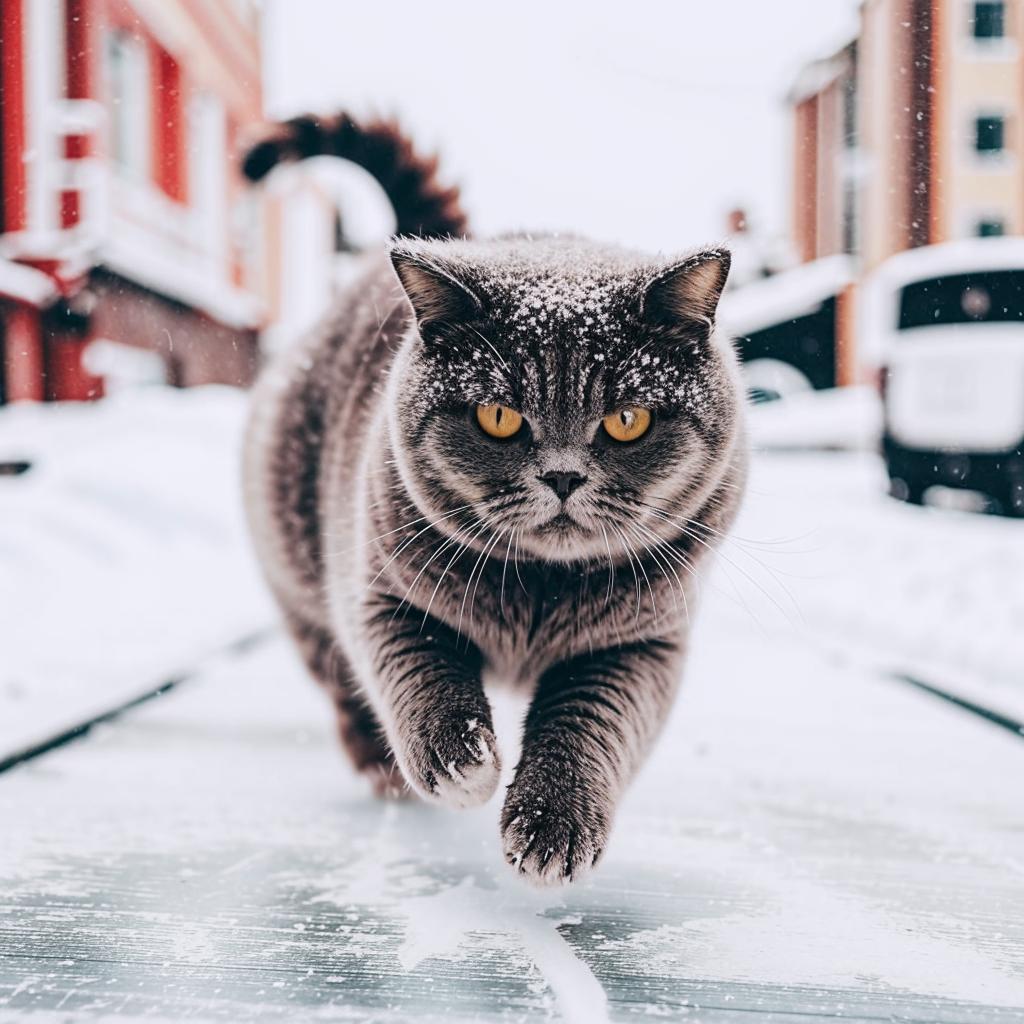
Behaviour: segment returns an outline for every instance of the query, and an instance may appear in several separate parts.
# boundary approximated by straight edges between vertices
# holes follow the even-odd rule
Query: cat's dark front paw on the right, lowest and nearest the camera
[[[578,881],[597,863],[609,816],[583,794],[557,783],[509,788],[502,809],[505,859],[538,886]]]

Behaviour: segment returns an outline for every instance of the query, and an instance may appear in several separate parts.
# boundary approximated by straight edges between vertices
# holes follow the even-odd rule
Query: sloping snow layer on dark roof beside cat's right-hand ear
[[[826,256],[743,285],[722,297],[718,319],[726,334],[743,337],[755,331],[806,316],[853,282],[850,256]]]

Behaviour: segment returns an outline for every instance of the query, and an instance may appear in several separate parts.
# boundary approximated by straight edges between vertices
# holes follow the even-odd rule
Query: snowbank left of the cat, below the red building
[[[246,398],[153,388],[0,410],[0,754],[137,695],[271,613],[240,501]]]

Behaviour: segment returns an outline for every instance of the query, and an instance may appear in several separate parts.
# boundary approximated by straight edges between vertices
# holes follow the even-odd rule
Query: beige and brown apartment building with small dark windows
[[[803,261],[1024,233],[1024,0],[864,0],[794,111]]]

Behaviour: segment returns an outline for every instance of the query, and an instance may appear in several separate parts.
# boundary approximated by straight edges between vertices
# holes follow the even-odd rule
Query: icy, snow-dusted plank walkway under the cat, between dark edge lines
[[[706,614],[570,890],[373,801],[283,643],[0,776],[0,1020],[1024,1021],[1024,742]]]

